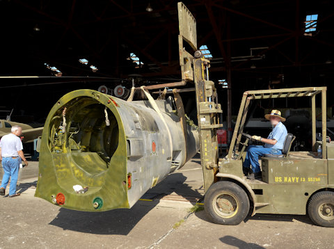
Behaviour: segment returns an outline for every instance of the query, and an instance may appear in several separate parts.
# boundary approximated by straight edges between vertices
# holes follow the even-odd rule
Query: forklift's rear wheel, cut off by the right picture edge
[[[334,227],[334,193],[321,191],[308,203],[308,216],[316,225]]]

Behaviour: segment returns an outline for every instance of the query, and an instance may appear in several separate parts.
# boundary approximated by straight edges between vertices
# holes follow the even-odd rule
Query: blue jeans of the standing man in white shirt
[[[17,184],[17,177],[19,176],[19,163],[20,159],[13,159],[12,157],[3,157],[2,158],[2,168],[4,171],[2,182],[0,188],[5,188],[10,179],[10,186],[9,186],[9,195],[15,195],[16,193],[16,184]]]

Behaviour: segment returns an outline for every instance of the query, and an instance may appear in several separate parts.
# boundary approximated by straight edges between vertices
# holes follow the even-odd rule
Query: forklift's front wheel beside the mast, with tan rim
[[[204,199],[205,212],[212,222],[238,225],[249,211],[249,198],[241,186],[221,181],[212,184]]]

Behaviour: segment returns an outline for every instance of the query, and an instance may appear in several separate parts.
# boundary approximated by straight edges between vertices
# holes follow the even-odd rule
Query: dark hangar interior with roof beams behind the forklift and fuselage
[[[333,119],[333,1],[184,4],[197,20],[198,49],[211,61],[209,78],[218,89],[225,129],[232,129],[245,90],[327,86],[327,115]],[[109,94],[126,98],[132,86],[181,80],[177,1],[6,0],[0,11],[1,118],[11,113],[13,121],[43,124],[72,90],[106,86]],[[182,98],[195,120],[194,93]],[[298,117],[290,130],[300,139],[305,135],[310,99],[255,102],[248,118],[257,132],[264,128],[267,134],[259,118],[271,108]]]

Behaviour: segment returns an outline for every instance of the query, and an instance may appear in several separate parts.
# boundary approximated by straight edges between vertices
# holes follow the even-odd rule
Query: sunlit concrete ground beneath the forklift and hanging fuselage
[[[189,215],[203,194],[199,159],[152,188],[132,209],[86,213],[34,198],[38,163],[20,172],[17,198],[0,198],[2,248],[333,248],[333,228],[307,216],[255,215],[237,226]],[[190,202],[189,202],[190,201]],[[184,220],[184,222],[182,222]],[[174,227],[174,228],[173,228]]]

